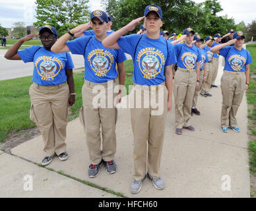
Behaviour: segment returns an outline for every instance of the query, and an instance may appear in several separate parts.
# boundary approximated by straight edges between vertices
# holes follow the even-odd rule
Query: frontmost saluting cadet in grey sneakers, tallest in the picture
[[[146,34],[123,36],[134,30],[141,20],[144,20]],[[141,190],[146,167],[154,187],[164,189],[164,181],[160,177],[160,159],[166,113],[172,108],[172,65],[176,63],[176,57],[173,45],[160,36],[162,24],[160,7],[148,5],[143,17],[131,21],[102,42],[106,47],[120,48],[133,57],[134,86],[129,95],[129,100],[135,102],[135,107],[131,106],[135,166],[135,179],[131,184],[133,194]],[[153,104],[156,98],[158,105]]]

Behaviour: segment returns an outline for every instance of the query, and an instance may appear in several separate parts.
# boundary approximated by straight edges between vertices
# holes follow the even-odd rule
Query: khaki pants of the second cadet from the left
[[[113,100],[115,80],[96,84],[84,80],[80,121],[84,126],[86,144],[92,164],[113,160],[116,151],[115,123],[117,109]],[[96,93],[94,93],[94,90]],[[102,150],[100,128],[102,132]]]

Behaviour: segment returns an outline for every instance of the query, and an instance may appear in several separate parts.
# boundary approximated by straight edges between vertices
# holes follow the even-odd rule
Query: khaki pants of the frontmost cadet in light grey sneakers
[[[146,166],[148,173],[153,178],[160,176],[168,90],[164,84],[154,86],[154,88],[156,89],[153,90],[150,87],[148,90],[148,86],[135,84],[131,94],[129,94],[129,100],[135,102],[134,108],[131,108],[131,126],[134,141],[134,177],[136,180],[144,179]],[[135,100],[136,98],[139,100]],[[139,102],[140,100],[142,104]],[[158,106],[155,106],[152,101],[158,103]]]

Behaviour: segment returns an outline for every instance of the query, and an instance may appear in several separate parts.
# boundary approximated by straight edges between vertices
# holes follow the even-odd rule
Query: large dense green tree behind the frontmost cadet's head
[[[104,9],[115,21],[113,30],[125,26],[134,18],[143,16],[144,8],[150,4],[152,4],[151,0],[102,0]],[[228,30],[234,28],[233,18],[217,16],[217,13],[222,11],[217,0],[207,0],[199,4],[192,0],[155,0],[154,4],[162,9],[164,21],[162,30],[179,33],[191,27],[201,36],[209,36],[216,33],[226,34]],[[130,33],[138,30],[139,26]]]

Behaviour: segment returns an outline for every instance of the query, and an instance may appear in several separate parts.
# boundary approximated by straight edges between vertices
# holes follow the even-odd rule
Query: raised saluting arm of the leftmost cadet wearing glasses
[[[32,38],[36,38],[39,33],[36,34],[28,34],[24,38],[20,38],[16,44],[14,44],[6,53],[5,58],[10,60],[21,60],[20,56],[18,55],[18,49],[20,48],[20,45],[22,45],[24,42],[28,40],[32,40]]]

